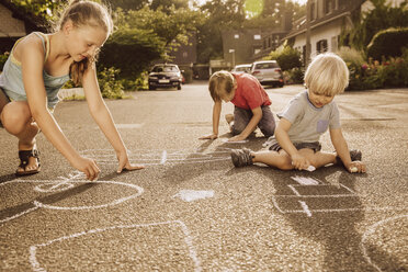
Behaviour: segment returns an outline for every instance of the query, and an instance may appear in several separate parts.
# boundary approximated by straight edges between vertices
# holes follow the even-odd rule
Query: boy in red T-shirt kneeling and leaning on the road
[[[213,134],[200,139],[216,139],[218,137],[223,100],[230,101],[235,105],[234,115],[225,115],[230,131],[235,135],[229,141],[245,140],[257,126],[265,137],[274,134],[275,120],[270,109],[271,100],[257,78],[249,73],[217,71],[211,76],[208,89],[214,100]]]

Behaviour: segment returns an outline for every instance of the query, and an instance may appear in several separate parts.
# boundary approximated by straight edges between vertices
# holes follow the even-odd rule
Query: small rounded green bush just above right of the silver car
[[[283,71],[302,67],[301,53],[288,45],[271,52],[265,59],[276,60]]]

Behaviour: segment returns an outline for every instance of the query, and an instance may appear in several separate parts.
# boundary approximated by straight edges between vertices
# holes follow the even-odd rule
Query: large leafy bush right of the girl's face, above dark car
[[[152,60],[169,58],[167,53],[186,43],[200,18],[190,10],[169,9],[170,14],[148,7],[128,12],[117,10],[118,29],[106,41],[100,65],[120,68],[123,78],[136,78]]]

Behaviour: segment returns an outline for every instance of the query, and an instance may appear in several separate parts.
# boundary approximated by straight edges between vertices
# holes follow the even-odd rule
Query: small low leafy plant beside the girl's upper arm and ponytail
[[[106,99],[123,99],[125,93],[123,91],[123,86],[120,80],[116,80],[120,70],[111,67],[109,69],[104,68],[98,73],[98,82],[101,88],[101,93],[103,98]]]

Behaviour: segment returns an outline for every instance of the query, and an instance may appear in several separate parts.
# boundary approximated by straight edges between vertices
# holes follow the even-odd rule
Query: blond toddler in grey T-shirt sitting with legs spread
[[[341,133],[339,109],[333,101],[349,83],[345,63],[336,54],[318,55],[305,73],[307,90],[291,100],[283,113],[270,150],[253,152],[247,148],[231,151],[235,167],[262,162],[281,170],[315,169],[342,163],[350,172],[365,172],[361,151],[351,150]],[[320,135],[329,128],[336,152],[320,151]]]

